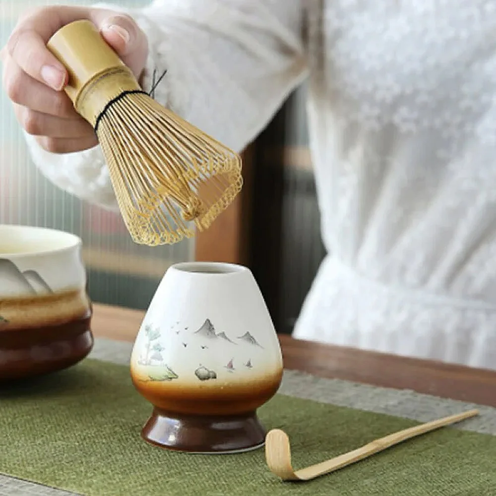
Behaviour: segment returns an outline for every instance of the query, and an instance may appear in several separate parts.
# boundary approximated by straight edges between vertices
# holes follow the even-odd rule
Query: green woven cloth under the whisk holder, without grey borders
[[[152,447],[150,405],[128,368],[95,360],[0,390],[0,472],[105,496],[496,495],[496,436],[445,428],[308,483],[283,483],[263,449],[188,455]],[[414,422],[277,395],[265,426],[291,437],[294,466],[316,463]]]

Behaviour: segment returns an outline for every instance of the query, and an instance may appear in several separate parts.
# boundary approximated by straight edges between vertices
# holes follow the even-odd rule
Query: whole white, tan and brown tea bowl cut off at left
[[[81,240],[0,225],[0,381],[55,372],[93,346]]]

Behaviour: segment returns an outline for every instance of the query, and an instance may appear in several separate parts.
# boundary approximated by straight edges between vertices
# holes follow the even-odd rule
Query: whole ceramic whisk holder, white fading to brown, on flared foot
[[[256,411],[277,392],[279,340],[251,271],[226,263],[169,268],[131,354],[134,386],[153,406],[152,444],[196,453],[263,445]]]

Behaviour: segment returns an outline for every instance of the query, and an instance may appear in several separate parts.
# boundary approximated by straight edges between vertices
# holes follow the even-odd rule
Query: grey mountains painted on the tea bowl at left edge
[[[0,288],[7,296],[37,295],[52,293],[48,284],[34,270],[22,273],[15,263],[0,258]]]

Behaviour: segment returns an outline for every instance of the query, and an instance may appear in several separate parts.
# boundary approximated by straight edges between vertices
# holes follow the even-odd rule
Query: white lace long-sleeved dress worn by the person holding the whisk
[[[149,72],[168,69],[156,98],[237,150],[308,78],[329,254],[295,337],[496,369],[496,1],[128,12],[149,37]],[[116,208],[98,147],[54,155],[26,138],[56,185]]]

